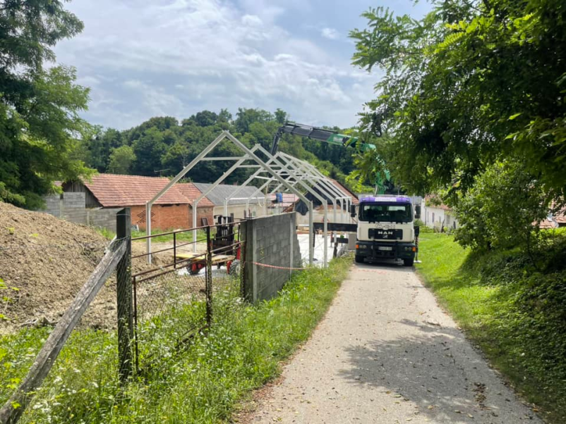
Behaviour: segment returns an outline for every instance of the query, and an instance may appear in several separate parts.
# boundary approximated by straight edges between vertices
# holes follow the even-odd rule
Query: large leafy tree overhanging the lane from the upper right
[[[498,161],[520,161],[560,199],[566,187],[566,6],[552,0],[433,1],[417,21],[383,8],[354,30],[354,64],[377,66],[361,130],[383,132],[411,191],[465,192]]]

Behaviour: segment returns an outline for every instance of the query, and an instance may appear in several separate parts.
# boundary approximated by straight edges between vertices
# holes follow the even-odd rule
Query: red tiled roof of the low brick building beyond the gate
[[[98,174],[84,182],[104,207],[141,206],[163,189],[169,180],[165,177],[139,175]],[[173,186],[155,204],[190,204],[191,201]]]

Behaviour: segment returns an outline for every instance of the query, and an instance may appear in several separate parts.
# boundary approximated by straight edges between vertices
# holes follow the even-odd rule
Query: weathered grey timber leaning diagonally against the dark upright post
[[[41,386],[44,378],[47,377],[49,370],[51,370],[69,335],[76,327],[78,320],[83,316],[86,308],[100,291],[104,282],[116,269],[125,253],[126,243],[121,241],[117,244],[112,244],[106,254],[104,254],[102,261],[98,263],[88,281],[80,289],[71,306],[67,308],[64,316],[47,338],[47,342],[43,345],[40,353],[37,354],[32,368],[30,368],[20,387],[16,389],[12,397],[0,409],[0,423],[15,424],[18,421],[26,406],[30,403],[34,392]],[[15,408],[14,406],[17,407]]]

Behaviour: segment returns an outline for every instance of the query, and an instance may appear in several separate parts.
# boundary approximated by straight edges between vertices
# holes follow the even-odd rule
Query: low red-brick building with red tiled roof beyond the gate
[[[65,182],[63,189],[64,192],[84,192],[86,208],[131,208],[132,225],[138,225],[141,230],[145,230],[145,204],[168,183],[169,180],[165,177],[98,174],[92,177],[91,181]],[[200,207],[198,208],[199,224],[200,218],[208,214],[205,203],[203,206],[205,207],[202,212]],[[177,185],[171,187],[153,204],[151,213],[152,229],[192,227],[191,200]]]

